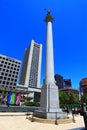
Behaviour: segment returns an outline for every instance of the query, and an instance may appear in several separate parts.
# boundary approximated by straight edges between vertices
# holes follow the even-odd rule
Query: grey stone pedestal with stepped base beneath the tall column
[[[42,87],[40,107],[34,116],[45,119],[67,118],[67,113],[59,108],[58,87],[55,84]]]

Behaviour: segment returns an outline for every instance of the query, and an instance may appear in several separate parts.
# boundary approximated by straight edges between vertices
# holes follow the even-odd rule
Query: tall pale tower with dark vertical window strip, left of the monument
[[[19,84],[25,87],[40,88],[42,45],[34,40],[25,50]]]

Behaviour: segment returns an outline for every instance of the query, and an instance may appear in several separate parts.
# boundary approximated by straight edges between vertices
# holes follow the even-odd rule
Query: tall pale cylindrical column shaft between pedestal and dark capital
[[[52,22],[47,22],[45,84],[54,84],[54,57]]]

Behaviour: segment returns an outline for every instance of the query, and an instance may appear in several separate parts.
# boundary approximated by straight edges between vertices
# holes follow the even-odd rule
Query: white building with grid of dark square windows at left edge
[[[16,87],[21,61],[0,55],[0,87]]]

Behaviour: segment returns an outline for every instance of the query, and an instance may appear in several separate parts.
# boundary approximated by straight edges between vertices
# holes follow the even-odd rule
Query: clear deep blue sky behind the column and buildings
[[[78,88],[87,77],[87,0],[0,0],[0,54],[23,60],[34,39],[43,44],[41,83],[44,78],[46,24],[44,8],[53,22],[55,74],[70,78]]]

